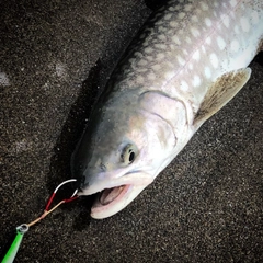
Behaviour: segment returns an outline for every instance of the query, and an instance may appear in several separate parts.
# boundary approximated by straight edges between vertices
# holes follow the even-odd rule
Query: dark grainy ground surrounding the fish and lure
[[[92,102],[150,10],[142,0],[10,0],[0,12],[3,255],[13,229],[71,176]],[[263,262],[262,58],[251,68],[126,209],[94,220],[89,198],[67,204],[30,229],[15,262]]]

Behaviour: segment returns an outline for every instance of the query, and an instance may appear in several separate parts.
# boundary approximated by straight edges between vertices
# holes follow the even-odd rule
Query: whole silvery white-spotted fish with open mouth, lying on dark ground
[[[71,158],[91,217],[115,215],[178,156],[251,76],[262,0],[172,0],[132,42]]]

